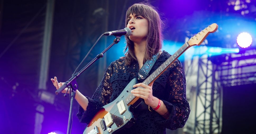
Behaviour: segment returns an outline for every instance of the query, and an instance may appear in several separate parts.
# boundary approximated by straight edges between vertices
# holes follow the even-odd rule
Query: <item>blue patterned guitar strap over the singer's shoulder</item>
[[[152,69],[152,67],[154,66],[155,64],[155,61],[157,61],[157,57],[158,57],[159,53],[153,55],[153,57],[150,59],[150,60],[147,60],[145,62],[145,64],[142,66],[142,68],[139,70],[139,73],[138,73],[138,79],[145,79],[150,70]]]

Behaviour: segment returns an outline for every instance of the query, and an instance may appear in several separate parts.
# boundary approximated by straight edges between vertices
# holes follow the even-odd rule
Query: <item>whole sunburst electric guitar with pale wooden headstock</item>
[[[162,65],[158,67],[151,75],[149,75],[142,83],[151,84],[154,82],[178,57],[183,54],[189,47],[200,45],[203,40],[210,34],[218,29],[218,25],[213,23],[206,27],[195,36],[191,37],[177,52],[170,56]],[[111,103],[103,106],[99,112],[93,117],[88,124],[83,134],[112,134],[122,128],[129,128],[134,124],[135,119],[132,114],[135,102],[139,101],[139,97],[135,97],[131,94],[132,86],[137,83],[137,79],[134,78],[125,87],[122,93]]]

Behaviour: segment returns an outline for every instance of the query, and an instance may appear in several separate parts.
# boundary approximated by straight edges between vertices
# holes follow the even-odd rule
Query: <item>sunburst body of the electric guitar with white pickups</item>
[[[93,117],[91,122],[84,130],[83,134],[112,134],[116,133],[120,127],[131,127],[135,121],[131,112],[134,107],[131,105],[131,103],[130,105],[127,105],[127,101],[125,101],[124,99],[130,95],[131,90],[134,89],[132,86],[136,83],[136,78],[132,79],[131,82],[125,87],[123,92],[113,102],[103,106],[99,110],[99,112],[97,112],[96,115]],[[120,114],[118,105],[121,105],[122,101],[125,101],[123,106],[125,106],[126,110],[122,114]],[[121,109],[124,108],[122,107]],[[109,114],[111,117],[107,119],[108,121],[106,121],[106,118],[104,118],[104,116],[106,117],[106,115]],[[112,121],[110,121],[109,123],[109,120]]]

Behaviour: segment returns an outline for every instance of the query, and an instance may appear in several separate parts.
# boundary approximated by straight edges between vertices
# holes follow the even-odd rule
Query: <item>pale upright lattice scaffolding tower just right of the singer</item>
[[[194,56],[185,63],[191,109],[185,133],[221,133],[222,87],[216,68],[208,55]]]

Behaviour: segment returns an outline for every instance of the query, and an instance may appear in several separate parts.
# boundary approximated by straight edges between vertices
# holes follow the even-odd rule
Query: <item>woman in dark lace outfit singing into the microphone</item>
[[[138,84],[132,85],[134,89],[131,90],[130,94],[142,100],[142,103],[134,104],[136,108],[132,114],[135,120],[131,121],[134,124],[130,128],[118,128],[116,133],[164,134],[166,133],[165,128],[176,130],[185,125],[190,109],[186,100],[184,69],[179,60],[168,67],[154,83],[149,85],[142,83],[144,77],[147,76],[141,74],[141,70],[148,71],[149,76],[170,57],[168,52],[162,51],[162,25],[163,22],[157,10],[150,4],[137,3],[128,8],[125,25],[131,29],[131,34],[125,36],[125,50],[128,51],[124,57],[113,61],[108,66],[99,87],[91,98],[84,96],[77,90],[75,99],[80,104],[77,113],[80,122],[92,123],[90,121],[96,113],[103,106],[108,106],[109,103],[119,99],[118,96],[127,84],[136,78]],[[154,64],[151,64],[151,59],[155,60]],[[148,70],[148,66],[151,67],[151,70]],[[56,77],[51,81],[56,89],[59,89],[63,84],[59,83]],[[63,93],[66,91],[67,89],[63,90]],[[127,90],[127,92],[129,91]],[[106,120],[105,117],[104,119]],[[119,121],[125,122],[126,120],[124,118]],[[114,124],[113,122],[115,122],[114,114],[111,113],[109,122],[105,121],[103,127],[95,127],[101,132],[105,130],[105,126],[106,131],[112,133],[114,126],[111,127],[111,125]]]

